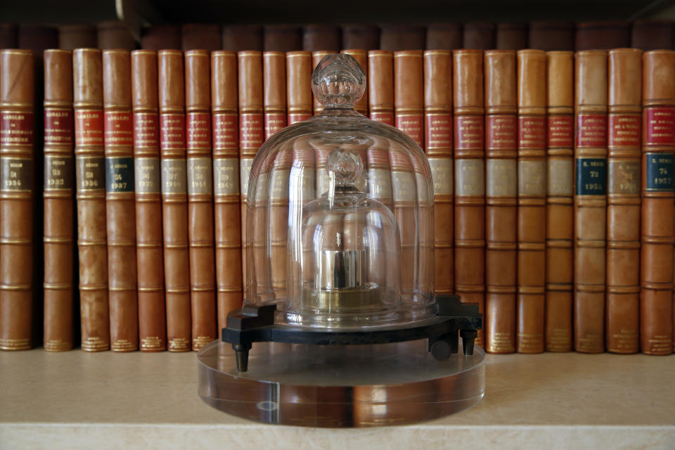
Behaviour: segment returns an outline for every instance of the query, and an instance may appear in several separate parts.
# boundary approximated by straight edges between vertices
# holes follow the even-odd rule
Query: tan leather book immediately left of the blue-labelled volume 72
[[[546,52],[547,352],[572,351],[574,267],[574,53]]]

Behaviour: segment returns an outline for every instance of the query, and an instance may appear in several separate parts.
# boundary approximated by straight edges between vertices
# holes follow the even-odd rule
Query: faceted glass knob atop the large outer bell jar
[[[352,108],[365,90],[366,72],[345,53],[325,56],[311,74],[311,91],[324,108]]]

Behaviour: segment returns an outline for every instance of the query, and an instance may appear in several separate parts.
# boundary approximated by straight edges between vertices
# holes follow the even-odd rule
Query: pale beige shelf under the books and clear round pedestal
[[[193,353],[0,352],[0,447],[555,450],[675,442],[675,356],[488,355],[486,372],[486,397],[468,411],[418,425],[328,430],[212,409],[198,397]]]

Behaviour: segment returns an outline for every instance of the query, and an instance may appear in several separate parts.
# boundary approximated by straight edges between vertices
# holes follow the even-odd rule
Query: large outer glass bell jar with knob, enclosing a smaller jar
[[[354,111],[366,76],[345,54],[311,77],[323,113],[258,150],[248,186],[245,304],[275,323],[399,326],[437,313],[429,163],[403,132]]]

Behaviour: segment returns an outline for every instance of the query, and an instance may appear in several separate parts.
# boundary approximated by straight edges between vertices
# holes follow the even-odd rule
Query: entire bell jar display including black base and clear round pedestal
[[[482,319],[477,305],[433,295],[429,163],[406,134],[354,111],[366,84],[354,58],[326,56],[311,84],[323,112],[255,155],[245,301],[198,354],[200,397],[315,427],[467,409],[484,395]]]

